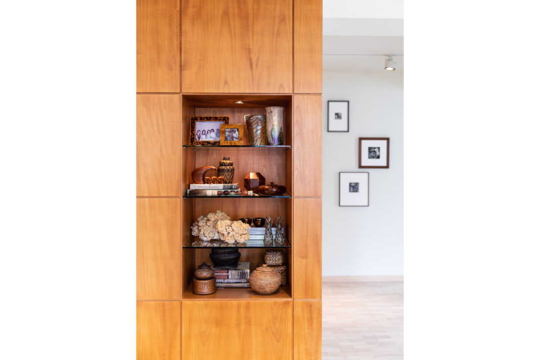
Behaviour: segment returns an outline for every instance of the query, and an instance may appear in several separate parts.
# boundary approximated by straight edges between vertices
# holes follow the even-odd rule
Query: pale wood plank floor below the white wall
[[[403,281],[323,277],[322,360],[403,359]]]

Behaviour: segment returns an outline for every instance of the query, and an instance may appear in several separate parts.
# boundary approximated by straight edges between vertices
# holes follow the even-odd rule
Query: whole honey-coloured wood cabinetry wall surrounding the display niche
[[[321,359],[321,91],[322,0],[137,0],[138,359]],[[197,94],[290,99],[276,176],[292,198],[257,200],[287,213],[288,292],[185,293],[206,253],[182,245],[210,206],[182,197],[205,156],[182,148],[186,124],[215,111]],[[215,341],[231,328],[241,337]]]

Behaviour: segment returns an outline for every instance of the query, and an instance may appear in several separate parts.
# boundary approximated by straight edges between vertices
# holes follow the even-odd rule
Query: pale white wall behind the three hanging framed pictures
[[[403,71],[323,72],[322,275],[403,275]],[[349,100],[349,132],[327,101]],[[389,169],[358,168],[358,138],[390,138]],[[339,172],[369,172],[369,206],[339,206]]]

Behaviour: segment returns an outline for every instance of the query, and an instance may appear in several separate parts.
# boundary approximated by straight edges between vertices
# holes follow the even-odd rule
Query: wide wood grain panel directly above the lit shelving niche
[[[183,92],[292,92],[292,0],[183,0]]]

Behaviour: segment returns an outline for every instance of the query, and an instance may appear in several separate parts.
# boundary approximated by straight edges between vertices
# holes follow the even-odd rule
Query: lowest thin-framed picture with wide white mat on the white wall
[[[339,206],[369,206],[369,173],[339,173]]]

